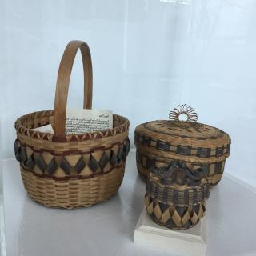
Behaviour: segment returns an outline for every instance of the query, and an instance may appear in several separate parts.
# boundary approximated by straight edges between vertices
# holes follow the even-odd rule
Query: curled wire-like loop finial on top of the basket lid
[[[174,108],[173,111],[169,113],[170,121],[181,121],[179,116],[181,114],[186,114],[186,121],[188,122],[197,122],[198,114],[194,112],[194,109],[191,106],[187,106],[186,104],[178,105],[177,108]]]

